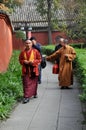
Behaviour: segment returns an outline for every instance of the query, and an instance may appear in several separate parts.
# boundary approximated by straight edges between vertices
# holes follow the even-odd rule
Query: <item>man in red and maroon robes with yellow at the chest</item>
[[[22,65],[22,83],[24,98],[23,103],[27,103],[30,97],[37,97],[37,86],[41,55],[37,49],[32,48],[32,41],[25,41],[25,49],[19,55],[19,62]]]

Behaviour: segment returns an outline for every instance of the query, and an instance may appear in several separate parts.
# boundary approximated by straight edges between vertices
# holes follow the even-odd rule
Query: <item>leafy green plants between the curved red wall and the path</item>
[[[7,72],[0,74],[0,119],[9,116],[14,104],[22,96],[18,55],[19,51],[14,51]]]

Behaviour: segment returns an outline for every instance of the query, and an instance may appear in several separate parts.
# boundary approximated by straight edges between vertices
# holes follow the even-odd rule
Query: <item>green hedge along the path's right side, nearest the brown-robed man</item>
[[[82,94],[80,99],[86,101],[86,49],[76,49],[75,75],[81,84]]]

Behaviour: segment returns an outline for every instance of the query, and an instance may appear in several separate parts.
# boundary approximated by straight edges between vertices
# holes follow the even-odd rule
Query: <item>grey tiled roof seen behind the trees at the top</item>
[[[67,15],[67,12],[61,9],[55,12],[54,17],[60,19],[58,23],[61,25],[62,22],[66,23],[66,20],[64,19],[69,18]],[[72,17],[72,14],[70,14],[70,16]],[[46,27],[48,25],[47,17],[40,16],[36,11],[35,0],[25,0],[23,5],[21,7],[17,7],[15,12],[10,15],[10,19],[13,26],[19,26],[20,23],[22,26],[24,26],[24,23],[27,23],[32,27]]]

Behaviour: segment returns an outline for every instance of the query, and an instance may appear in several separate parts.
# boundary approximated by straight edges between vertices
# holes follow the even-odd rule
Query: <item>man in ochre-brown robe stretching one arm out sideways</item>
[[[61,86],[61,88],[69,88],[70,85],[73,85],[72,61],[76,57],[76,52],[73,47],[68,45],[64,38],[60,39],[60,44],[62,45],[62,48],[52,55],[47,56],[46,60],[56,59],[56,57],[59,56],[59,86]]]

